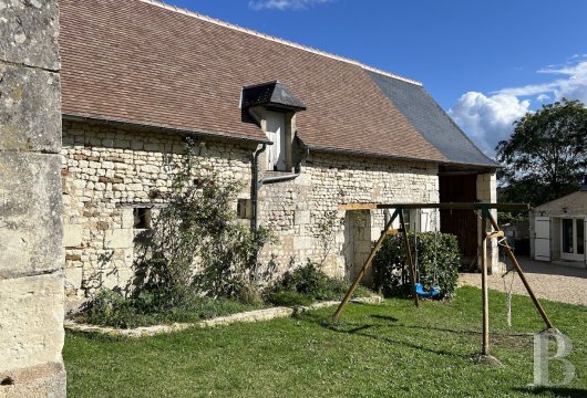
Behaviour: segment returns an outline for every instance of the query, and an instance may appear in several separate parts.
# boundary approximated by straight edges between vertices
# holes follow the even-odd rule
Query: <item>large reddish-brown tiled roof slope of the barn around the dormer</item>
[[[63,113],[265,140],[243,86],[279,80],[311,148],[445,161],[363,66],[140,0],[61,0]]]

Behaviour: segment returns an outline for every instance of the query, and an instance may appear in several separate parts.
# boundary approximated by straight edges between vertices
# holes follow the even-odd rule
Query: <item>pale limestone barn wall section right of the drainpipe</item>
[[[388,160],[339,154],[310,153],[301,175],[288,182],[265,186],[259,192],[259,220],[276,231],[279,244],[266,248],[282,268],[307,259],[322,263],[331,275],[352,274],[364,261],[368,242],[379,238],[383,211],[371,211],[357,231],[340,203],[436,202],[437,167],[433,164]],[[347,221],[346,221],[347,219]],[[353,224],[358,224],[356,221]],[[365,228],[367,227],[367,228]],[[347,228],[347,231],[346,231]],[[359,234],[359,235],[358,235]],[[352,237],[360,241],[354,245]]]

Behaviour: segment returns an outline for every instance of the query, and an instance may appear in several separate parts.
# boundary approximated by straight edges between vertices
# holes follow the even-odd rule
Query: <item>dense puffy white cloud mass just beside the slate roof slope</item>
[[[514,95],[468,92],[456,101],[449,115],[481,150],[493,157],[497,143],[512,134],[514,121],[528,112],[529,104]]]

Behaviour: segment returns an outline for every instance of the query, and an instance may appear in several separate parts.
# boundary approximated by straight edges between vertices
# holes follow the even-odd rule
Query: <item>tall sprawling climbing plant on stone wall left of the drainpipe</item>
[[[239,222],[233,205],[241,185],[202,167],[200,148],[188,142],[185,156],[174,161],[167,205],[135,239],[134,294],[154,292],[168,302],[194,292],[253,301],[265,276],[257,253],[269,233]]]

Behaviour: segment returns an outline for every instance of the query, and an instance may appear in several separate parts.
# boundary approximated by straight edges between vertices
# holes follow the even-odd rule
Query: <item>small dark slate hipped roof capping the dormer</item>
[[[243,87],[243,107],[256,105],[276,106],[286,109],[305,111],[306,105],[279,81]]]

